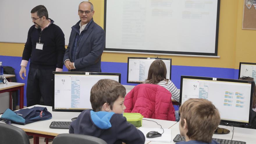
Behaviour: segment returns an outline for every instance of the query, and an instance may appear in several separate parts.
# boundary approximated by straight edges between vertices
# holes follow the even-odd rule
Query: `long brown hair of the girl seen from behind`
[[[155,60],[149,67],[147,79],[144,83],[157,84],[163,80],[168,82],[168,79],[166,79],[166,73],[167,70],[165,63],[162,60]]]

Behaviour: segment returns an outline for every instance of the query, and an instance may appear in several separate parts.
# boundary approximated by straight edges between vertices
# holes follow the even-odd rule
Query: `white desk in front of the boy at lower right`
[[[221,128],[225,128],[230,130],[229,134],[214,134],[212,137],[213,138],[221,138],[221,139],[227,139],[231,140],[232,138],[232,131],[233,127],[230,126],[223,126],[219,125]],[[175,138],[177,134],[180,134],[179,132],[179,122],[177,122],[175,125],[173,125],[171,128],[172,130],[172,139]],[[241,128],[241,127],[234,127],[234,136],[232,140],[235,141],[245,141],[246,144],[254,144],[256,141],[256,129],[246,129],[246,128]],[[172,141],[171,144],[174,144],[175,142]],[[151,143],[150,144],[154,144]]]

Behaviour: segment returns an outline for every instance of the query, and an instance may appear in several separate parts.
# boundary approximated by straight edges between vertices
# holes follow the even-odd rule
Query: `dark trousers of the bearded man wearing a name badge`
[[[54,69],[37,69],[29,67],[27,81],[27,106],[40,104],[40,98],[44,105],[53,106],[52,72]]]

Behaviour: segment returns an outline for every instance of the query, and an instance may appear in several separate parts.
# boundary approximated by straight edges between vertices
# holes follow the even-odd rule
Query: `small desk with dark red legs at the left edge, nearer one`
[[[19,90],[19,109],[23,109],[24,85],[25,83],[13,83],[13,82],[8,82],[6,84],[0,83],[0,93]],[[10,106],[12,106],[11,95],[10,95]]]

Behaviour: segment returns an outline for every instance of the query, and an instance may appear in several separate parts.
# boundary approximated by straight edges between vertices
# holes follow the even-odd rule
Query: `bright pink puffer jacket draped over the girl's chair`
[[[126,113],[141,113],[144,118],[175,121],[172,95],[155,84],[139,84],[125,97]]]

